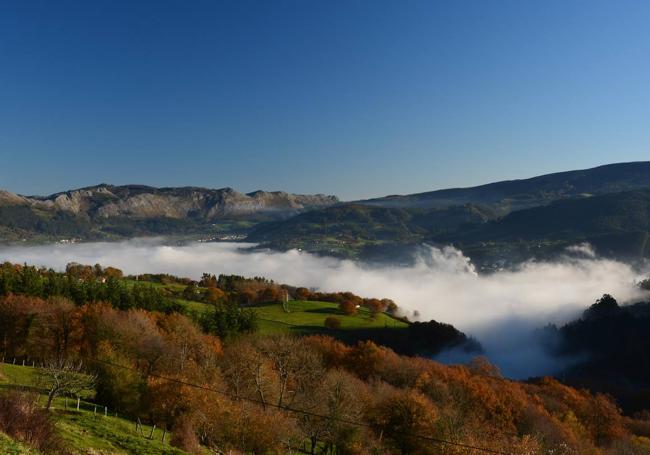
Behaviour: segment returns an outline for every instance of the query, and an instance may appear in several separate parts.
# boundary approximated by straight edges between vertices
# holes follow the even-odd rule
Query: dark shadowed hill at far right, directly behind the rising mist
[[[453,243],[470,254],[516,247],[528,255],[589,242],[606,256],[639,258],[650,255],[649,234],[650,190],[639,190],[557,201],[429,240]]]

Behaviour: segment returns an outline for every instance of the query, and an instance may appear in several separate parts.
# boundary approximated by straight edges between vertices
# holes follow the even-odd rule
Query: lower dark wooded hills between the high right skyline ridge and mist
[[[249,238],[276,249],[391,261],[405,260],[422,243],[453,244],[484,267],[552,255],[581,242],[610,257],[647,257],[649,235],[650,190],[638,190],[559,200],[501,218],[471,205],[341,205],[261,224]]]

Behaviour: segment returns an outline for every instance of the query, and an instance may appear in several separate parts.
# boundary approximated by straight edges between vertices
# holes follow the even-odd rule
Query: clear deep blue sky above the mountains
[[[650,3],[0,3],[0,188],[333,193],[650,159]]]

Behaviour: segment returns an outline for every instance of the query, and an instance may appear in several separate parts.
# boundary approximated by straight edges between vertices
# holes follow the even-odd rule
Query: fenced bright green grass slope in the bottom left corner
[[[0,388],[30,387],[37,389],[36,369],[19,365],[0,364]],[[40,393],[39,401],[45,402],[45,395]],[[80,410],[76,410],[76,402],[64,398],[54,400],[51,410],[55,417],[64,445],[73,454],[150,454],[150,455],[180,455],[185,452],[169,446],[170,434],[167,433],[165,443],[162,443],[163,432],[156,428],[142,426],[142,431],[136,431],[135,423],[114,414],[104,415],[104,408],[97,407],[88,401],[82,401]],[[148,439],[151,435],[151,439]],[[12,451],[13,450],[13,451]],[[35,454],[26,451],[24,446],[15,443],[10,438],[0,435],[0,453],[2,454]]]

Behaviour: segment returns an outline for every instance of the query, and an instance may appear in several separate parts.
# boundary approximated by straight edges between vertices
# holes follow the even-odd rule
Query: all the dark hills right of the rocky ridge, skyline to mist
[[[409,261],[423,243],[453,244],[481,268],[561,254],[650,255],[650,162],[354,201],[255,227],[249,240],[367,260]]]

